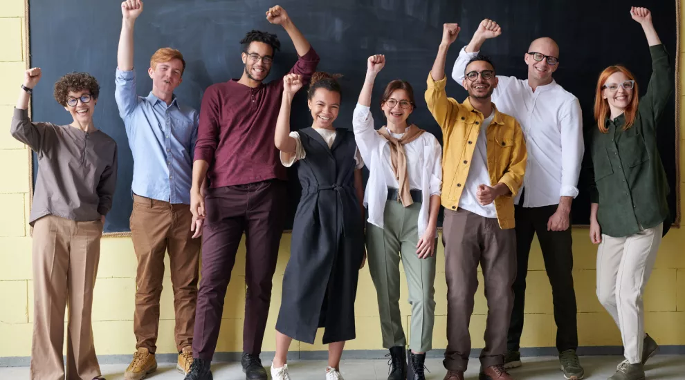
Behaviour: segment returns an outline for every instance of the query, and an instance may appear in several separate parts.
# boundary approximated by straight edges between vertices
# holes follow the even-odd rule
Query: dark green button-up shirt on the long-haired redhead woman
[[[657,126],[673,93],[673,79],[664,45],[650,46],[650,53],[652,77],[634,124],[623,131],[621,114],[605,121],[608,133],[595,125],[591,134],[590,200],[599,203],[597,220],[608,236],[637,234],[640,227],[655,227],[668,217],[669,189],[657,149]]]

